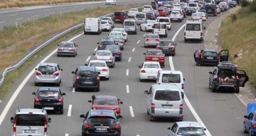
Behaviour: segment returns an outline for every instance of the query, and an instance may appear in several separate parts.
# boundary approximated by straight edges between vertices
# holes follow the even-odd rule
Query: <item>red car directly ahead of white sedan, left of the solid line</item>
[[[145,56],[145,61],[159,62],[161,66],[165,67],[165,54],[159,49],[150,49],[147,53],[143,53]]]

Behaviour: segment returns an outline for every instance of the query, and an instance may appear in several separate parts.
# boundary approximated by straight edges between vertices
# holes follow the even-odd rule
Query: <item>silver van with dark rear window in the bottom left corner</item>
[[[17,109],[11,117],[11,136],[48,136],[48,118],[46,110]]]

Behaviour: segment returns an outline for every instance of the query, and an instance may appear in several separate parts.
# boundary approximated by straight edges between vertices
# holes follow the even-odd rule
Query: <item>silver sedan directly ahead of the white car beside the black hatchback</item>
[[[107,64],[110,64],[111,67],[114,68],[115,57],[113,56],[110,50],[98,50],[96,53],[93,53],[92,55],[95,55],[93,60],[104,60]]]

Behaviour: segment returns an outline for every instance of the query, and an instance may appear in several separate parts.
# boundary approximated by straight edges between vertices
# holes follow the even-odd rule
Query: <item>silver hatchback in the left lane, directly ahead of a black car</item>
[[[61,83],[62,69],[57,63],[40,63],[36,70],[35,86],[40,83],[54,83],[57,86]]]

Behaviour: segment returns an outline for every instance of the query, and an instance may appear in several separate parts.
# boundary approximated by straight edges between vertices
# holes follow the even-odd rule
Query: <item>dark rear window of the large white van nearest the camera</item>
[[[155,92],[155,100],[177,101],[181,100],[181,97],[179,91],[157,90]]]

